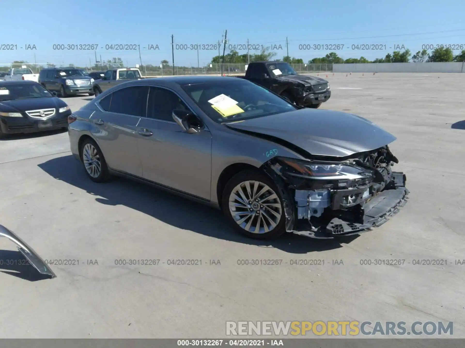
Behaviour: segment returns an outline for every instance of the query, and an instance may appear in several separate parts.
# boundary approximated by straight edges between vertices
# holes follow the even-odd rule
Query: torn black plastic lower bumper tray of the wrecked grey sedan
[[[306,221],[298,225],[299,227],[293,226],[292,230],[288,230],[288,232],[311,238],[328,239],[371,231],[373,227],[383,225],[390,217],[397,214],[408,200],[409,190],[405,187],[405,174],[399,172],[393,174],[396,178],[395,188],[381,191],[367,201],[361,210],[363,214],[359,219],[361,221],[355,222],[352,219],[334,217],[328,224],[320,226],[311,226]],[[339,196],[342,194],[344,193],[336,192],[333,195],[333,206],[340,204]]]

